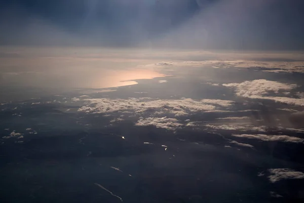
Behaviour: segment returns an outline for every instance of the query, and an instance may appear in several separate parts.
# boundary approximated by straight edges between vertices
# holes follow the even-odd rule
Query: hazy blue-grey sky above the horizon
[[[0,45],[302,50],[301,0],[2,0]]]

